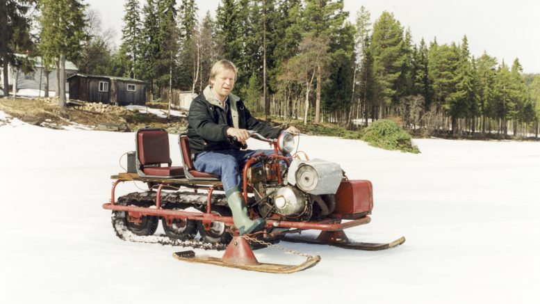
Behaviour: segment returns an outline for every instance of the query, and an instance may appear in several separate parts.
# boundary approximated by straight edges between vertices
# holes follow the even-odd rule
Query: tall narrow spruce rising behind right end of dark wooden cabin
[[[120,53],[129,58],[126,62],[126,71],[129,77],[139,77],[138,61],[140,59],[140,38],[142,22],[140,21],[140,6],[138,0],[126,0],[124,4],[124,27],[122,28],[122,45]]]

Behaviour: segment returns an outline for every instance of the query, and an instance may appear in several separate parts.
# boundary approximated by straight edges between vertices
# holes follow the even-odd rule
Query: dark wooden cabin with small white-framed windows
[[[73,74],[67,77],[67,81],[69,81],[69,99],[119,106],[146,104],[146,83],[142,80]]]

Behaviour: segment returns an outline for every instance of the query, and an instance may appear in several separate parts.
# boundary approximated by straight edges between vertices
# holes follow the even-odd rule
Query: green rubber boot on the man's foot
[[[233,212],[234,225],[240,235],[250,234],[264,228],[266,221],[263,218],[257,218],[255,221],[252,221],[247,215],[244,197],[238,188],[229,189],[225,195],[227,195],[227,204]]]

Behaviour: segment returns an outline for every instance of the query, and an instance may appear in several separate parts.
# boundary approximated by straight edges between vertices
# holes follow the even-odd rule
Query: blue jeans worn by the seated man
[[[219,150],[197,154],[193,161],[195,170],[220,175],[225,192],[234,187],[240,188],[240,169],[244,168],[249,157],[263,152],[274,154],[274,150]]]

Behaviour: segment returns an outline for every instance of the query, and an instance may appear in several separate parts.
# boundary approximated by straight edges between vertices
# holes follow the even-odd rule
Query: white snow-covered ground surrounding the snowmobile
[[[336,161],[350,179],[373,182],[372,222],[346,230],[348,237],[407,241],[380,252],[281,242],[322,260],[279,275],[179,262],[171,255],[183,248],[118,239],[101,205],[110,175],[122,170],[120,156],[134,150],[133,136],[47,129],[0,112],[0,303],[538,301],[539,142],[418,139],[422,153],[404,154],[302,136],[311,159]],[[179,147],[171,153],[179,165]],[[144,188],[120,184],[116,194],[137,186]],[[255,255],[302,262],[274,248]]]

